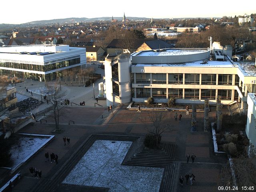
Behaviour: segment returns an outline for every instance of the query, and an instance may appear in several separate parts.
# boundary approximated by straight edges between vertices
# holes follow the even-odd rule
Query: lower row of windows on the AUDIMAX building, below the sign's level
[[[232,90],[218,90],[218,95],[222,97],[222,100],[231,100]],[[199,89],[184,89],[185,99],[199,99]],[[136,88],[136,98],[149,98],[150,88]],[[153,98],[166,98],[165,88],[152,88]],[[183,89],[168,89],[168,98],[183,98]],[[238,98],[238,93],[235,92],[235,97]],[[215,100],[215,89],[201,89],[201,99]]]

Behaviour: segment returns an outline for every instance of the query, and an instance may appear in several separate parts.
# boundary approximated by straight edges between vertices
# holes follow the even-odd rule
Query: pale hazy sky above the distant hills
[[[256,13],[256,0],[1,0],[0,24],[70,17],[222,17]]]

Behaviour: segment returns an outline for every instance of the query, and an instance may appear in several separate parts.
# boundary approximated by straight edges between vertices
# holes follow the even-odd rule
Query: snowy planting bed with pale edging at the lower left
[[[12,154],[11,159],[13,161],[13,168],[20,164],[30,154],[38,150],[38,147],[42,145],[48,138],[31,138],[21,137],[18,142],[10,149]]]

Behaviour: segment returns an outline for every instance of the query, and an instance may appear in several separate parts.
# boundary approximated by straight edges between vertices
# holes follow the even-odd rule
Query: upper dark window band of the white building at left
[[[80,58],[74,58],[66,61],[60,61],[47,65],[34,65],[34,64],[24,64],[24,63],[14,63],[14,62],[0,62],[0,67],[23,69],[31,71],[42,71],[47,72],[67,66],[72,66],[75,64],[80,64]]]

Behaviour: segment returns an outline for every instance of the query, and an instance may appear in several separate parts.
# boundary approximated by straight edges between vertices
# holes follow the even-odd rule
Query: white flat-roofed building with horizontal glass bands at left
[[[68,45],[0,47],[0,74],[33,80],[54,80],[61,71],[86,65],[86,49]]]

